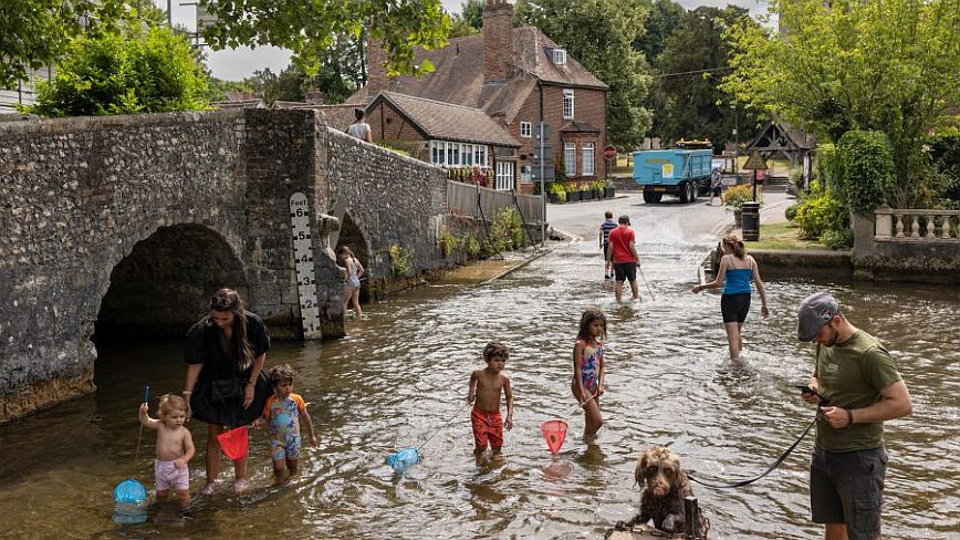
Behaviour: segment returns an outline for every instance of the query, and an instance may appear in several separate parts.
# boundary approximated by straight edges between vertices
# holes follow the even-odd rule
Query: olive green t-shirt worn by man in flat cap
[[[820,393],[831,405],[862,408],[880,401],[880,390],[900,381],[890,353],[873,335],[857,330],[849,340],[821,346],[816,359]],[[829,451],[868,450],[884,446],[884,423],[836,429],[821,419],[816,444]]]

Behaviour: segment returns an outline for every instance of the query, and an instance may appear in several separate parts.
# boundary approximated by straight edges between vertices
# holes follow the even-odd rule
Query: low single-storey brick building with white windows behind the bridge
[[[477,166],[490,187],[515,189],[520,143],[483,111],[394,92],[377,94],[366,111],[374,141],[459,172],[458,180]]]

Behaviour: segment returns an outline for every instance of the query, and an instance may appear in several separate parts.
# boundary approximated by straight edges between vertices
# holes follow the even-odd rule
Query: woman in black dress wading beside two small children
[[[220,443],[225,429],[251,424],[260,417],[272,393],[263,375],[270,336],[260,318],[243,309],[232,289],[220,289],[210,312],[187,333],[187,380],[184,396],[191,416],[208,424],[207,484],[200,495],[213,492],[220,472]],[[233,461],[233,489],[247,489],[247,457]]]

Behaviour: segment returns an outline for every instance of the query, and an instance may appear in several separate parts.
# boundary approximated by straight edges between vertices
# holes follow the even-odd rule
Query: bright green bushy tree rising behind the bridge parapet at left
[[[208,106],[207,75],[190,44],[166,28],[75,38],[29,112],[85,116]]]

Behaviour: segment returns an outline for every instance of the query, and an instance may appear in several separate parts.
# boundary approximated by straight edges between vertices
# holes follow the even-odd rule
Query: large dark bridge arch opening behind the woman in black
[[[247,276],[232,246],[196,224],[160,227],[113,267],[93,341],[182,336],[220,287],[247,294]]]

